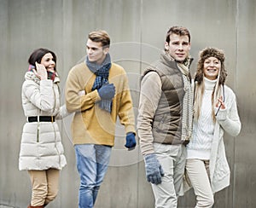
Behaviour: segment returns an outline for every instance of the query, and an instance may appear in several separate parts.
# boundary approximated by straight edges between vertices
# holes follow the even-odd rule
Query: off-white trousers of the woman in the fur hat
[[[214,198],[209,179],[209,160],[187,159],[186,170],[195,191],[195,208],[211,208]]]

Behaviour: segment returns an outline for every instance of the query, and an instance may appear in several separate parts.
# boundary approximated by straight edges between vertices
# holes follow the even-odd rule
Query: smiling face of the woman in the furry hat
[[[214,80],[218,77],[218,71],[221,68],[221,62],[211,56],[204,61],[204,76],[210,80]]]

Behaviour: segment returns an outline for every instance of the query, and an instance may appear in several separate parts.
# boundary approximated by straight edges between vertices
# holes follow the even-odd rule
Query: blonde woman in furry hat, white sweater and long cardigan
[[[201,51],[195,74],[195,114],[187,146],[186,171],[196,196],[195,207],[212,207],[213,194],[230,185],[224,131],[237,136],[241,122],[236,95],[224,84],[227,72],[220,49]]]

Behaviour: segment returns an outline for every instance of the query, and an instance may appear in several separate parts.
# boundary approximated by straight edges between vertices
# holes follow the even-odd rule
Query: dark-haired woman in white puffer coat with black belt
[[[67,164],[61,133],[55,119],[68,115],[60,107],[60,78],[56,56],[49,49],[36,49],[22,85],[22,107],[26,116],[20,144],[19,169],[28,170],[32,182],[29,207],[44,207],[58,193],[60,170]]]

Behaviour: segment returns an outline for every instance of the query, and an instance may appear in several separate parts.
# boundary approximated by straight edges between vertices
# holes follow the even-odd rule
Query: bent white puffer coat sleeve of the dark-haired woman
[[[32,80],[26,80],[22,91],[32,104],[42,111],[50,111],[55,107],[55,95],[52,80],[41,80],[35,84]]]

